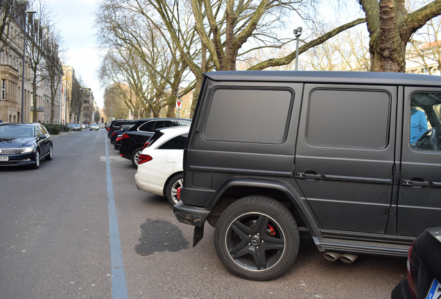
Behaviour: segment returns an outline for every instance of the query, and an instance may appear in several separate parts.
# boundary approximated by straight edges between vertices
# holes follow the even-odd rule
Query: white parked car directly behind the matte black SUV
[[[182,158],[189,128],[158,130],[138,158],[137,188],[166,197],[172,206],[178,203],[176,192],[182,186]]]

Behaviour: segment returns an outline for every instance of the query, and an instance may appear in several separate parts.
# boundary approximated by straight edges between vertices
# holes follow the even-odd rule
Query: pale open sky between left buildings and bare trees
[[[64,65],[73,66],[77,78],[89,87],[99,107],[103,107],[103,90],[96,73],[100,57],[96,48],[94,11],[98,0],[46,0],[67,49]]]

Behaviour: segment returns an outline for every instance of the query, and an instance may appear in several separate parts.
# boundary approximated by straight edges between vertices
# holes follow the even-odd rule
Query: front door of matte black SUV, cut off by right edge
[[[410,145],[410,107],[426,115],[435,130],[433,144]],[[399,185],[397,234],[417,236],[441,226],[441,89],[407,87],[404,90],[404,125]]]

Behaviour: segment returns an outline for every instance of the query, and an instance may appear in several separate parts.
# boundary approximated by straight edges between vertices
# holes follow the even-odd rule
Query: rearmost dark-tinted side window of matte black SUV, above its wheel
[[[215,89],[203,136],[213,141],[283,143],[293,98],[291,89]]]

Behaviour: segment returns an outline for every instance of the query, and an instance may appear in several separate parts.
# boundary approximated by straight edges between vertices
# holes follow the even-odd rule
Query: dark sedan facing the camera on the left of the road
[[[31,165],[40,167],[40,160],[52,160],[51,135],[44,125],[0,124],[0,166]]]

